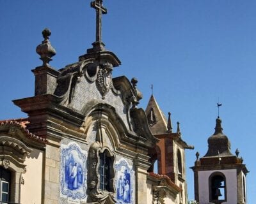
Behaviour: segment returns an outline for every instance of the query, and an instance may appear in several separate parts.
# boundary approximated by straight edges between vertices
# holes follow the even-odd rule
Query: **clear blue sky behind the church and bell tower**
[[[207,152],[220,116],[232,152],[241,152],[251,172],[248,203],[255,197],[256,1],[255,0],[106,0],[103,41],[122,61],[115,77],[137,77],[148,103],[154,96],[164,113],[180,122],[182,137],[195,145],[186,151],[193,166],[196,151]],[[35,48],[42,30],[52,31],[57,54],[51,65],[76,62],[95,40],[95,11],[88,0],[0,0],[0,119],[26,117],[12,99],[33,96],[31,69],[41,65]],[[188,169],[189,199],[193,172]],[[254,194],[253,194],[254,193]]]

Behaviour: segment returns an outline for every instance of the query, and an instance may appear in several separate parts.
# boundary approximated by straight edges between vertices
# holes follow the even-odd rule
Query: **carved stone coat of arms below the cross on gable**
[[[106,94],[113,87],[112,82],[112,64],[106,63],[103,64],[102,68],[99,69],[97,75],[97,89],[99,89],[102,99],[105,98]]]

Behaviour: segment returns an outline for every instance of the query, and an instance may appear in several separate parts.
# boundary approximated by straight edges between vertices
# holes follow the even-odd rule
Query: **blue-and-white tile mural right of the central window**
[[[133,203],[134,171],[125,159],[116,162],[116,200],[118,204]]]

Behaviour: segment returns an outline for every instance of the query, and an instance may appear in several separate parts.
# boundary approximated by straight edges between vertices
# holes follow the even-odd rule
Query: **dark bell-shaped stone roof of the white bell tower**
[[[222,130],[221,119],[218,117],[216,119],[215,132],[208,138],[208,151],[204,157],[233,156],[230,152],[230,141]]]

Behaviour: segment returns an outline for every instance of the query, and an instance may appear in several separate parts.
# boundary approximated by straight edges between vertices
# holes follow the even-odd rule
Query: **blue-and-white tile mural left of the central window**
[[[87,152],[76,143],[61,145],[61,197],[86,199]]]

